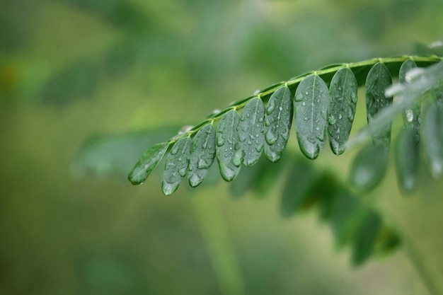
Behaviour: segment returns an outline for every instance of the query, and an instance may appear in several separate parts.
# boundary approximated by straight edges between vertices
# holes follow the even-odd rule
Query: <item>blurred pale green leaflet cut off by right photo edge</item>
[[[423,113],[423,147],[432,176],[439,179],[443,175],[443,108],[433,102]]]

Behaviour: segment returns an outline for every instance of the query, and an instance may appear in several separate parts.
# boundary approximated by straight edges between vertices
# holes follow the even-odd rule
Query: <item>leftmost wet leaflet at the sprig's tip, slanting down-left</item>
[[[159,165],[161,158],[163,158],[168,150],[168,146],[168,142],[154,144],[154,146],[151,146],[142,154],[128,176],[128,179],[133,185],[139,185],[148,178],[149,174]]]

